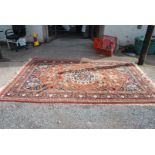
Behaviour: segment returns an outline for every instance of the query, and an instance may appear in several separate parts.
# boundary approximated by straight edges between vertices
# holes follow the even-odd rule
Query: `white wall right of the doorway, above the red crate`
[[[142,29],[137,29],[137,25],[105,25],[104,34],[116,36],[119,45],[127,45],[134,44],[136,37],[145,36],[146,29],[146,25]]]

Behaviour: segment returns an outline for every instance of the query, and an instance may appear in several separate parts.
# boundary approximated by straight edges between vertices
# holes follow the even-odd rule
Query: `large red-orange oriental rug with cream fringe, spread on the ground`
[[[155,87],[133,63],[34,58],[1,91],[0,101],[155,103]]]

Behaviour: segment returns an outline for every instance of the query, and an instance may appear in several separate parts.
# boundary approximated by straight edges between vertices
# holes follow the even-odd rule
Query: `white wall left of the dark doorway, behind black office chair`
[[[12,28],[11,25],[0,25],[0,30],[7,30]],[[44,41],[42,25],[26,25],[26,39],[27,41],[33,41],[33,32],[38,33],[38,39],[40,42]],[[0,33],[0,38],[4,38],[5,34]]]

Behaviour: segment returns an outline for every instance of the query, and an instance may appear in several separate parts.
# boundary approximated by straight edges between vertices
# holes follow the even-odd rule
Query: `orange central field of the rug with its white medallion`
[[[99,67],[99,68],[98,68]],[[101,66],[87,64],[43,65],[33,71],[26,81],[28,90],[95,91],[119,90],[129,79],[119,69],[102,69]]]

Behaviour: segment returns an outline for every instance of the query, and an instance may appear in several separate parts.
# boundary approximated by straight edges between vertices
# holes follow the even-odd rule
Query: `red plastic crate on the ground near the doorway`
[[[98,53],[112,56],[117,45],[117,38],[104,35],[101,38],[94,38],[94,48]]]

